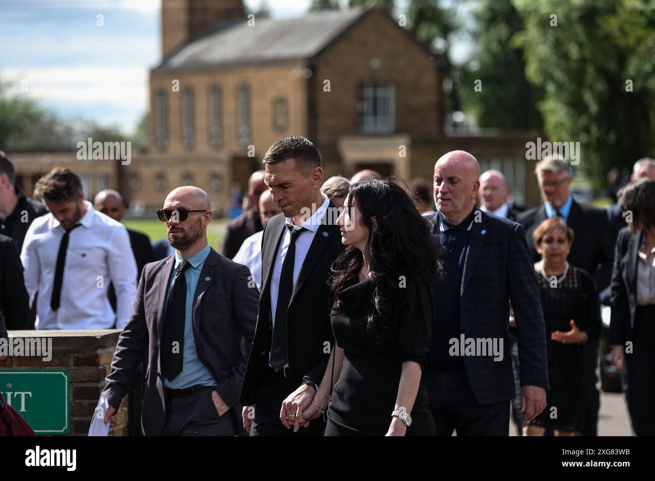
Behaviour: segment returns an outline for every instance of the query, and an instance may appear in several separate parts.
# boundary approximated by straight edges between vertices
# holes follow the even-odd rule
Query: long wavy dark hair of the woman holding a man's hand
[[[365,255],[372,271],[373,310],[367,315],[366,324],[367,330],[377,336],[388,327],[400,297],[400,276],[427,282],[441,276],[438,262],[441,245],[407,192],[389,179],[358,182],[350,187],[348,194],[346,208],[352,209],[352,201],[356,200],[362,224],[369,231]],[[375,234],[373,217],[377,223]],[[358,279],[363,264],[362,252],[355,246],[346,247],[333,262],[330,287],[333,315],[344,308],[339,288],[350,279]]]

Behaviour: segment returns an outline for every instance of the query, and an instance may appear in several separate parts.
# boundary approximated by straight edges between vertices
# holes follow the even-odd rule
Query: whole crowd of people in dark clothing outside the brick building
[[[0,338],[122,329],[105,423],[129,393],[134,434],[595,436],[603,304],[631,429],[655,435],[655,160],[607,210],[557,157],[527,211],[469,152],[425,175],[324,180],[286,137],[218,253],[200,188],[168,194],[151,244],[116,190],[88,202],[54,168],[33,200],[0,152]]]

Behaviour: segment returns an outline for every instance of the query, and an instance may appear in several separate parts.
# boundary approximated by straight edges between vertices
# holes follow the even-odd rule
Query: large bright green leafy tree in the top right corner
[[[653,156],[655,4],[643,0],[513,0],[527,78],[553,141],[580,141],[596,188],[612,167]]]

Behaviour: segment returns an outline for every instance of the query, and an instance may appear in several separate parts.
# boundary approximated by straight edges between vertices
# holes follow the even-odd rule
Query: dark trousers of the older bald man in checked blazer
[[[510,401],[480,404],[465,370],[424,370],[437,436],[509,436]]]

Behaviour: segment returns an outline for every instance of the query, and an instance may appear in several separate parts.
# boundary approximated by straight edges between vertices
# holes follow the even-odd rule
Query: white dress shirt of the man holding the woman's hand
[[[295,260],[293,261],[293,286],[295,287],[295,283],[298,280],[298,274],[300,274],[300,268],[303,266],[303,262],[305,262],[305,257],[307,257],[307,252],[309,251],[309,247],[312,245],[312,241],[314,240],[314,236],[316,235],[316,231],[318,230],[318,227],[320,226],[321,221],[323,220],[323,216],[327,212],[327,206],[329,205],[329,198],[327,198],[326,195],[321,194],[324,196],[325,200],[323,201],[323,204],[321,204],[318,209],[316,209],[316,212],[314,212],[314,215],[307,219],[305,223],[299,225],[299,226],[294,226],[293,221],[291,219],[286,220],[286,224],[293,226],[293,230],[299,230],[300,228],[304,227],[307,229],[307,232],[303,232],[300,234],[295,241]],[[289,249],[289,243],[291,242],[291,232],[289,232],[288,228],[284,229],[284,239],[282,239],[282,243],[280,245],[280,249],[278,249],[278,253],[275,257],[275,262],[273,263],[273,272],[271,276],[271,315],[273,319],[273,327],[275,327],[275,310],[278,306],[278,290],[280,289],[280,276],[282,275],[282,262],[284,262],[284,258],[286,257],[286,253]]]

